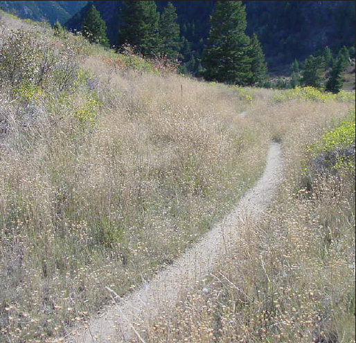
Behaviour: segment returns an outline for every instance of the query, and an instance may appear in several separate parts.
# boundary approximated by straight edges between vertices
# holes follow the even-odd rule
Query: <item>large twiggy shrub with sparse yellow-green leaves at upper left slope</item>
[[[58,48],[30,32],[10,31],[0,44],[0,88],[12,90],[22,100],[51,91],[73,91],[79,70],[77,49],[69,41]]]

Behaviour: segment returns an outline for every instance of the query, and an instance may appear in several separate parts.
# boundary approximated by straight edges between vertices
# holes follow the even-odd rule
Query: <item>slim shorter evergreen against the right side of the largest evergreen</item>
[[[254,33],[250,40],[249,57],[251,58],[252,77],[250,84],[262,82],[266,78],[267,64],[265,62],[265,54],[263,53],[260,41]]]

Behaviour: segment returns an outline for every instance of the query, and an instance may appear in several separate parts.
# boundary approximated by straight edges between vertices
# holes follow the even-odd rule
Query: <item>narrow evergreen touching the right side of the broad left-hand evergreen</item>
[[[181,48],[179,25],[176,22],[175,6],[168,2],[159,19],[159,36],[161,37],[161,50],[168,59],[177,59]]]

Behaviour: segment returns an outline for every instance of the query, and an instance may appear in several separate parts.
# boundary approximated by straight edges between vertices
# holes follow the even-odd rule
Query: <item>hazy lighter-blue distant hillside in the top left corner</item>
[[[23,19],[64,23],[88,1],[0,1],[0,8]]]

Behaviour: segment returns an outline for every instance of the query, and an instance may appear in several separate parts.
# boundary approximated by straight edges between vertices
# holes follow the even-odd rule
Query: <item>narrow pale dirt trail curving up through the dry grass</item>
[[[226,246],[238,237],[244,218],[257,219],[264,212],[282,177],[281,145],[272,142],[264,174],[228,216],[175,263],[159,272],[149,284],[107,308],[100,317],[91,319],[87,331],[77,333],[67,342],[118,343],[127,342],[135,335],[138,337],[131,323],[157,317],[163,310],[171,310],[181,293],[193,288],[197,281],[213,270],[216,263],[224,261]]]

